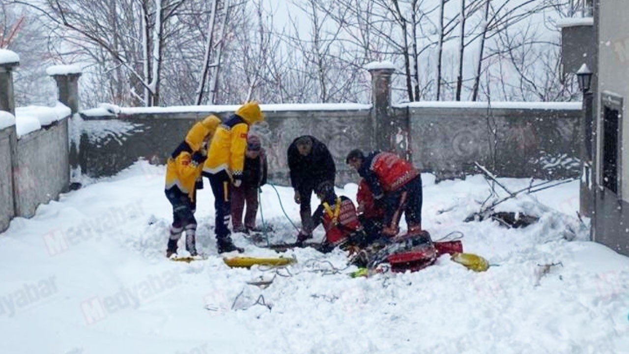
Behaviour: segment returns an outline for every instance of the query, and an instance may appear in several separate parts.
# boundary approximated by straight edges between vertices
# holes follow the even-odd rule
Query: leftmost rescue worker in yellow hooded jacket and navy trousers
[[[186,231],[186,250],[191,256],[196,256],[196,190],[202,184],[201,171],[203,163],[208,158],[208,142],[212,138],[216,127],[221,123],[220,118],[209,115],[203,121],[195,123],[177,149],[170,155],[166,167],[165,193],[172,204],[172,226],[166,256],[177,253],[177,241]]]

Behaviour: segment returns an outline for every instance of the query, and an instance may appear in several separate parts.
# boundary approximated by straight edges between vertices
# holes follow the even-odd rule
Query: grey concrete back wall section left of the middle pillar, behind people
[[[91,177],[111,176],[143,158],[164,164],[197,120],[213,113],[225,119],[233,112],[133,114],[84,117],[79,144],[79,166]],[[260,135],[269,156],[269,178],[287,184],[286,150],[299,135],[325,142],[337,163],[338,183],[355,181],[345,165],[349,149],[370,145],[369,110],[265,111],[266,122],[252,131]],[[95,133],[96,132],[96,133]]]

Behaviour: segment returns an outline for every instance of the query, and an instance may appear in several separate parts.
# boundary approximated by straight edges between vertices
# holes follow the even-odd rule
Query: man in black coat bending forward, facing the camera
[[[301,216],[298,242],[303,242],[312,237],[310,198],[313,190],[323,181],[333,185],[337,168],[328,147],[311,135],[303,135],[293,140],[287,154],[291,185],[295,190],[295,203],[299,204]]]

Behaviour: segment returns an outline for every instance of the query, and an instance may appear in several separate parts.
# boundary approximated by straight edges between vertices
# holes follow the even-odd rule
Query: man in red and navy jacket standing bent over
[[[382,234],[396,236],[404,213],[408,234],[421,231],[421,175],[411,163],[392,152],[373,151],[367,156],[350,151],[345,162],[365,179],[376,205],[384,208]]]

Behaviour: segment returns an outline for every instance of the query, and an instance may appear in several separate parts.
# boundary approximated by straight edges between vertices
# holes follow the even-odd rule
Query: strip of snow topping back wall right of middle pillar
[[[518,110],[581,110],[581,102],[478,102],[478,101],[420,101],[393,105],[396,108],[498,108]]]

